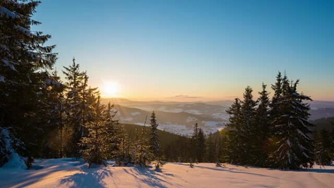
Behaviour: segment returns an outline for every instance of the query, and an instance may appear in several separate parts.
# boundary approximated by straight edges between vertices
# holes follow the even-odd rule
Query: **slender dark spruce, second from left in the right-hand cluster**
[[[241,163],[245,165],[249,165],[257,160],[255,150],[258,143],[254,139],[258,136],[257,125],[255,123],[257,101],[253,99],[252,91],[252,88],[247,86],[245,88],[244,100],[241,102],[241,122],[244,135],[241,140],[244,145],[244,151],[241,154]]]

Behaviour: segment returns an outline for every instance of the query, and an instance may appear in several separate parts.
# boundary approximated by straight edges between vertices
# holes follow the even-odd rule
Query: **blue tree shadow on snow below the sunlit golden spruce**
[[[69,188],[105,188],[105,177],[112,176],[108,168],[87,168],[73,175],[66,176],[61,180]]]

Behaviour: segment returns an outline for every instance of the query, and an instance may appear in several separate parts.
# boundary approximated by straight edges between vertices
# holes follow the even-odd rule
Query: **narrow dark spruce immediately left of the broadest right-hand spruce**
[[[255,166],[265,166],[268,159],[268,137],[270,136],[270,111],[269,93],[267,85],[262,83],[262,91],[259,92],[259,104],[255,112],[255,123],[253,125],[253,148],[251,164]]]

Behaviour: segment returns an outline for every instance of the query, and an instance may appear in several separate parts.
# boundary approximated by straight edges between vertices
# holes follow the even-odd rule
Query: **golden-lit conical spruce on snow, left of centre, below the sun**
[[[79,143],[84,149],[80,150],[83,153],[85,162],[88,167],[91,164],[107,165],[107,157],[110,152],[110,135],[108,134],[108,123],[103,117],[105,106],[100,103],[100,94],[97,96],[97,103],[94,106],[96,119],[94,122],[86,123],[85,127],[88,130],[87,136],[81,139]]]

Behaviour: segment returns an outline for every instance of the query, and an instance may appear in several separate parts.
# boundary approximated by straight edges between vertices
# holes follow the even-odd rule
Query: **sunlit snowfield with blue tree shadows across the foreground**
[[[34,169],[0,168],[0,188],[334,188],[334,166],[302,171],[168,163],[152,168],[91,167],[71,158],[36,160]]]

